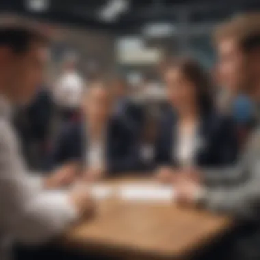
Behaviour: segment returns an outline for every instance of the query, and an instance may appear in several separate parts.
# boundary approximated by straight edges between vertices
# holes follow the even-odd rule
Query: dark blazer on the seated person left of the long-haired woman
[[[75,160],[85,164],[88,153],[88,135],[85,129],[83,122],[64,127],[53,151],[52,166]],[[107,127],[105,159],[107,172],[111,174],[135,170],[138,161],[135,135],[116,118],[111,119]]]

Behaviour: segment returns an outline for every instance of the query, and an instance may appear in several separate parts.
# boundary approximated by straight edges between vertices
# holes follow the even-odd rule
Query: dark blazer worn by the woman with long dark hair
[[[156,164],[178,166],[174,151],[177,145],[177,116],[172,109],[166,112],[159,125],[156,144]],[[198,129],[200,145],[195,155],[197,166],[225,166],[237,158],[238,142],[235,124],[231,118],[216,112],[201,116]]]

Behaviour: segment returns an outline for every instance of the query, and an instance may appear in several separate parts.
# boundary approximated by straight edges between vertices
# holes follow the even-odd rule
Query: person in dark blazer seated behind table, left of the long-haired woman
[[[70,124],[60,133],[53,165],[66,163],[68,175],[83,166],[87,179],[134,170],[138,160],[135,135],[112,117],[112,96],[103,82],[93,82],[86,90],[82,112],[82,122]]]

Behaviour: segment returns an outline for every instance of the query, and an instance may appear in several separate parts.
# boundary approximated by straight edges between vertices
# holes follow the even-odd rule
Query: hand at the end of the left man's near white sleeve
[[[77,187],[73,188],[69,194],[70,202],[79,213],[79,216],[83,218],[88,218],[92,216],[95,210],[95,203],[88,191],[87,187]]]

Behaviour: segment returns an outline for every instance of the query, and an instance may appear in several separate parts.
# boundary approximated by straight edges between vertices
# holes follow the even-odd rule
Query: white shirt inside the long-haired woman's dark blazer
[[[183,167],[193,166],[196,149],[198,148],[197,125],[187,125],[177,130],[176,157]]]

